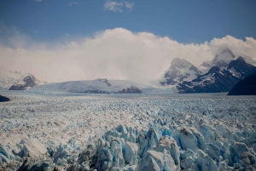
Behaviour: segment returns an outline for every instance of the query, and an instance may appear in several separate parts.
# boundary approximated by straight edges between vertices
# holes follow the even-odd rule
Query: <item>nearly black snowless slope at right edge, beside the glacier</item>
[[[228,95],[256,95],[256,73],[236,83]]]

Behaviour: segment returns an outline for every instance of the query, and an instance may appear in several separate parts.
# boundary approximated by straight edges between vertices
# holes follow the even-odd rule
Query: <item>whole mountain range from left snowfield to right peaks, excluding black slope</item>
[[[249,62],[249,63],[248,63]],[[251,63],[251,64],[250,64]],[[72,81],[44,83],[30,73],[0,71],[0,90],[61,91],[84,94],[141,94],[141,93],[219,93],[229,92],[236,83],[256,72],[255,60],[246,56],[236,58],[229,48],[220,51],[213,60],[194,66],[175,58],[159,81],[137,83],[127,80]],[[166,89],[172,89],[167,91]]]

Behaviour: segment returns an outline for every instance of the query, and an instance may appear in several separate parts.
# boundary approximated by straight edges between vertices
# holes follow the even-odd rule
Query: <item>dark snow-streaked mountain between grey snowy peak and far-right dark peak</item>
[[[217,66],[212,66],[206,74],[190,82],[177,84],[177,90],[179,93],[228,92],[239,80],[240,79],[233,76],[230,71],[221,71]]]

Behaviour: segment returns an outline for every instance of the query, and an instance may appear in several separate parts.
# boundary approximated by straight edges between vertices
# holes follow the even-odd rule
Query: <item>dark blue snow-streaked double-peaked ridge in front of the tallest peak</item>
[[[256,67],[247,64],[242,57],[231,60],[227,69],[218,66],[190,82],[177,85],[179,93],[218,93],[229,92],[244,77],[256,72]]]

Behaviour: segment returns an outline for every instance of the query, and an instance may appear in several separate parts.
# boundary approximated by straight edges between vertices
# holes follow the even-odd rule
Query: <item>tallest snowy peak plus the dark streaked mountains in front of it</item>
[[[229,92],[241,79],[256,72],[256,66],[247,63],[241,56],[236,58],[229,48],[224,48],[213,60],[201,66],[203,74],[177,83],[178,93]]]

